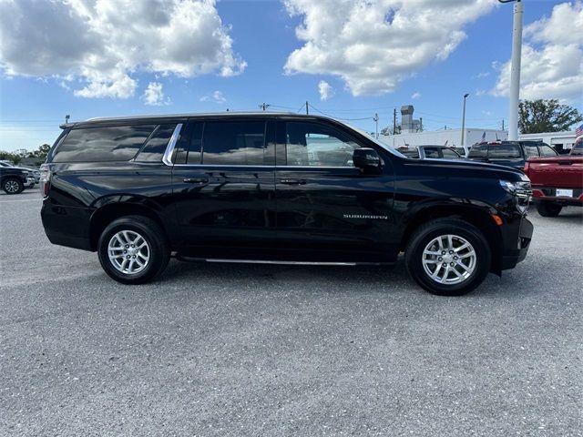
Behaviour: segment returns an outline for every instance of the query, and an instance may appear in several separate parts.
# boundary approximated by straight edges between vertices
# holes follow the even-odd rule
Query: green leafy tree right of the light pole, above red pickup
[[[557,99],[523,100],[518,105],[518,129],[523,134],[560,132],[583,121],[578,110],[560,105]]]

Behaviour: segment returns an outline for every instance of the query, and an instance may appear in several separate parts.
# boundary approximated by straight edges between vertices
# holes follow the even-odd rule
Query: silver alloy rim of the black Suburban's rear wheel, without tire
[[[146,239],[138,232],[120,230],[109,240],[107,255],[118,271],[135,275],[148,266],[150,249]]]

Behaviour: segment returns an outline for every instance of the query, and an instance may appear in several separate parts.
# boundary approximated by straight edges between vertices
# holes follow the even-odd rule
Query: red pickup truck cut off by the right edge
[[[563,207],[583,207],[583,141],[567,156],[528,158],[525,173],[541,216],[557,217]]]

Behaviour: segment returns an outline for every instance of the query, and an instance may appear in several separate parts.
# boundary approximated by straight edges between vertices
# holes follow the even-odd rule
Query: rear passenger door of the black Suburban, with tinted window
[[[182,251],[220,259],[266,255],[261,249],[275,241],[275,122],[192,120],[187,132],[172,172]]]

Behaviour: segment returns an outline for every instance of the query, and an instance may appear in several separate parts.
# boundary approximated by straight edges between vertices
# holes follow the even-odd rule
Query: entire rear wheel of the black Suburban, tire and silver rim
[[[112,221],[103,230],[97,255],[112,279],[122,284],[143,284],[166,269],[170,249],[158,223],[143,216],[127,216]]]

